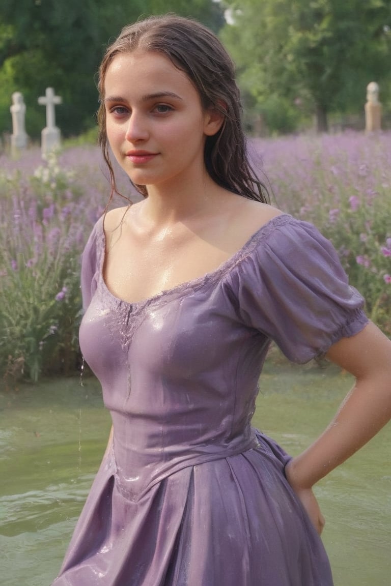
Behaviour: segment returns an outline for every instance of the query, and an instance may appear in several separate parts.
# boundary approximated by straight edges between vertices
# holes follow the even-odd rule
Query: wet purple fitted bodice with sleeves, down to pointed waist
[[[316,232],[314,238],[308,226],[287,214],[277,216],[216,271],[130,304],[104,283],[104,232],[98,222],[93,253],[83,259],[89,274],[83,298],[89,301],[80,346],[102,384],[113,418],[113,460],[124,491],[134,498],[183,466],[256,445],[251,417],[271,339],[304,362],[341,335],[352,311],[366,319],[359,316],[362,298],[348,286],[335,256],[322,248],[327,241]],[[311,241],[312,253],[315,247],[319,257],[323,250],[317,274],[313,267],[300,267],[300,280],[296,267],[308,254],[308,242],[298,246],[297,231]],[[301,258],[295,259],[298,251]],[[284,282],[281,259],[287,267]],[[318,285],[319,292],[319,271],[329,273],[331,267],[331,289]],[[307,278],[315,283],[311,289]],[[316,318],[327,323],[325,331],[315,324],[314,305]]]

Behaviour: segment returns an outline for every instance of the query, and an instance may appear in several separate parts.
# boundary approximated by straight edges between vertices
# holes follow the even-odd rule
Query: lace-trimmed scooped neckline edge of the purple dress
[[[103,275],[103,267],[104,267],[104,260],[105,260],[105,252],[106,252],[106,235],[104,233],[103,221],[104,215],[100,217],[97,222],[97,239],[99,242],[98,248],[98,265],[99,265],[99,281],[101,282],[101,286],[105,292],[105,294],[111,298],[113,302],[117,305],[123,305],[126,308],[131,309],[132,313],[136,311],[140,311],[140,309],[145,308],[154,302],[159,301],[159,299],[165,299],[171,296],[180,297],[183,292],[191,291],[194,292],[201,288],[206,282],[212,281],[219,281],[223,275],[227,272],[233,270],[239,263],[241,263],[244,258],[247,258],[249,254],[254,250],[254,247],[262,240],[266,239],[274,229],[280,226],[284,226],[285,224],[291,223],[294,221],[294,217],[288,213],[280,213],[277,216],[273,216],[270,220],[267,220],[259,229],[257,229],[246,243],[243,244],[239,250],[236,251],[232,256],[227,258],[219,267],[213,269],[213,271],[206,272],[205,275],[201,275],[200,277],[196,277],[189,281],[184,281],[175,285],[175,287],[171,287],[169,289],[163,289],[156,295],[152,295],[151,297],[147,297],[145,299],[141,299],[141,301],[125,301],[125,299],[121,299],[114,295],[113,292],[107,287],[106,281],[104,280]]]

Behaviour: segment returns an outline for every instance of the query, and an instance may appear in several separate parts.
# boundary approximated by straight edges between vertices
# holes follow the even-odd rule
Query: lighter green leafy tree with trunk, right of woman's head
[[[257,103],[269,96],[310,104],[318,131],[328,114],[385,78],[390,62],[388,0],[243,0],[226,2],[233,23],[222,39],[244,88]]]

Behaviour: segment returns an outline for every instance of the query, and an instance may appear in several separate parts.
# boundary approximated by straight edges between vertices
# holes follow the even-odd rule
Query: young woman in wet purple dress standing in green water
[[[128,26],[100,68],[100,143],[145,198],[91,233],[83,354],[113,429],[55,586],[331,586],[312,486],[391,416],[391,342],[329,241],[266,202],[219,40]],[[291,459],[251,428],[274,340],[355,376]]]

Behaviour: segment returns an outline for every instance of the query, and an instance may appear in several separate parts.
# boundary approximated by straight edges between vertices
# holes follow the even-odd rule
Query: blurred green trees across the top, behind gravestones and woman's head
[[[94,73],[110,39],[141,16],[175,12],[209,26],[237,66],[247,131],[275,135],[364,127],[370,81],[391,126],[391,3],[388,0],[2,0],[0,136],[21,91],[26,131],[38,140],[46,87],[62,96],[64,137],[95,127]]]

